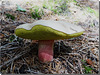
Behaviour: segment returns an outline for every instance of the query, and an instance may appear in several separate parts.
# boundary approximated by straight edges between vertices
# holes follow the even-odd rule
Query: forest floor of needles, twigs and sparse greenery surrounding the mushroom
[[[26,2],[25,5],[17,6],[12,6],[9,1],[1,2],[0,73],[99,73],[99,5],[98,1],[93,1],[48,0],[43,3],[43,0],[39,0],[39,2]],[[53,61],[41,63],[37,55],[38,42],[19,38],[14,34],[17,26],[41,19],[62,20],[76,24],[85,32],[76,38],[56,40]]]

